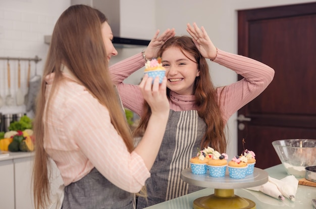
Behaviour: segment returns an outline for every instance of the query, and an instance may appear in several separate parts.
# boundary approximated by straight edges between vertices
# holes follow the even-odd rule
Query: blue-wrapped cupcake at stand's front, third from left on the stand
[[[229,177],[233,179],[243,179],[246,177],[247,158],[245,156],[236,155],[228,163]]]

